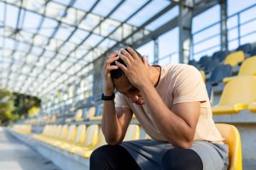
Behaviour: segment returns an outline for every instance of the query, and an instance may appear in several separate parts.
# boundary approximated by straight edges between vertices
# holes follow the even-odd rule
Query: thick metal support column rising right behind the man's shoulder
[[[192,41],[191,27],[193,18],[193,0],[179,1],[179,62],[188,63]]]

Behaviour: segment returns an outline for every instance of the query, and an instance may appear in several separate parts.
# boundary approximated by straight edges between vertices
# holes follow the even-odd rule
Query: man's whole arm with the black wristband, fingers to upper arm
[[[110,72],[118,69],[116,65],[110,65],[119,59],[117,51],[108,56],[103,66],[104,95],[113,94],[113,81]],[[125,137],[129,123],[131,122],[131,110],[128,108],[114,108],[113,100],[105,100],[102,110],[102,132],[108,144],[119,144]]]

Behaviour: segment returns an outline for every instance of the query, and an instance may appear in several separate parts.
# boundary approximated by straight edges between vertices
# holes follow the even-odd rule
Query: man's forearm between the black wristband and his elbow
[[[116,116],[113,100],[103,102],[102,132],[108,144],[116,144],[121,136],[121,127]]]

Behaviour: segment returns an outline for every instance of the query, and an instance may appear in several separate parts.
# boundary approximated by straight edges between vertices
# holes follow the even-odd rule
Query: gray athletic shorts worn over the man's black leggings
[[[131,140],[121,144],[131,154],[141,169],[161,169],[162,157],[172,144],[154,139]],[[204,170],[226,170],[229,166],[229,147],[207,141],[195,141],[191,150],[201,157]]]

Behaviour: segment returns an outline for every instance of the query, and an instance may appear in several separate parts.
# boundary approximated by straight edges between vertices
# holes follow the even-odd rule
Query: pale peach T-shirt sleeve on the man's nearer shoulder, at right
[[[207,90],[201,73],[194,66],[186,65],[177,73],[173,104],[193,101],[207,101]]]

